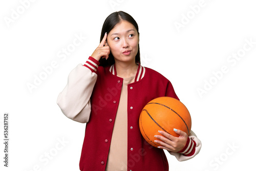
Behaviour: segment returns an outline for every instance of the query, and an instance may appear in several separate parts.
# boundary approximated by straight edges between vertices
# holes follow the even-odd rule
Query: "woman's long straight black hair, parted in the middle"
[[[136,28],[138,35],[139,35],[139,27],[136,23],[135,19],[128,13],[123,11],[118,11],[110,14],[108,17],[106,17],[105,22],[101,29],[101,35],[100,35],[100,42],[103,39],[105,33],[109,34],[109,32],[115,28],[115,26],[121,22],[121,20],[124,20],[126,22],[131,23]],[[138,53],[136,54],[135,61],[140,63],[140,46],[138,45]],[[113,54],[110,52],[109,58],[106,60],[105,58],[100,58],[99,60],[100,66],[111,66],[115,63],[115,59]]]

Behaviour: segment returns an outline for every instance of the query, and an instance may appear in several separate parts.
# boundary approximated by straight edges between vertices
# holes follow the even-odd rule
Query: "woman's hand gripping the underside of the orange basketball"
[[[179,137],[172,136],[164,131],[159,131],[161,135],[155,135],[156,138],[160,139],[155,140],[156,143],[159,143],[160,146],[158,148],[167,149],[168,151],[172,152],[179,152],[181,151],[187,142],[187,134],[181,130],[177,130],[176,133],[179,134]]]

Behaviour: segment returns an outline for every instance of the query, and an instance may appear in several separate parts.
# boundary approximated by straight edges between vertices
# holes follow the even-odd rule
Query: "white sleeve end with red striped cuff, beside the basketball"
[[[197,138],[196,134],[192,130],[190,131],[188,138],[189,138],[189,143],[186,149],[184,149],[183,153],[175,153],[175,152],[168,151],[171,155],[175,156],[178,161],[185,161],[185,160],[191,159],[200,152],[202,142]],[[186,154],[191,153],[193,148],[195,149],[194,154],[186,156]]]

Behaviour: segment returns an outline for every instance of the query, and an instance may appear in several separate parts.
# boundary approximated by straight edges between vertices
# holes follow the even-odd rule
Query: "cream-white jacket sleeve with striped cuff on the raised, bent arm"
[[[67,86],[58,95],[57,104],[62,113],[74,121],[81,123],[89,121],[90,98],[97,79],[95,73],[99,64],[97,62],[89,57],[84,66],[79,64],[73,69],[69,74]]]

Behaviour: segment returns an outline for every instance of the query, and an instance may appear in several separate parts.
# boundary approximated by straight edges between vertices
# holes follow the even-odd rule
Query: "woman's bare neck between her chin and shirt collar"
[[[138,65],[134,62],[115,62],[117,76],[121,78],[130,78],[136,75]]]

